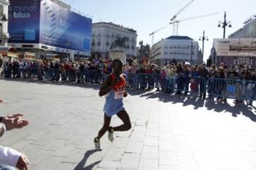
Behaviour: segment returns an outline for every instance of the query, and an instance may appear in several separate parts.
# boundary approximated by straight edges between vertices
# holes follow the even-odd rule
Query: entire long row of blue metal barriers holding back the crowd
[[[49,69],[49,68],[9,68],[4,67],[4,77],[32,78],[46,81],[66,81],[78,83],[96,83],[101,84],[107,78],[101,70],[84,69],[75,71],[75,69]],[[256,101],[256,81],[245,81],[235,79],[215,79],[206,80],[203,77],[188,78],[185,76],[176,76],[171,79],[161,77],[161,74],[127,74],[127,86],[137,89],[161,88],[166,93],[175,91],[184,94],[198,94],[203,96],[208,92],[210,97],[215,98],[235,98],[237,100]]]

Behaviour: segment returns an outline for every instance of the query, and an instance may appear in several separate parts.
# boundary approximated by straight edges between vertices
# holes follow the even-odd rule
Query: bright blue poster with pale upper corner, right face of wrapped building
[[[92,20],[50,0],[41,1],[40,43],[90,52]]]

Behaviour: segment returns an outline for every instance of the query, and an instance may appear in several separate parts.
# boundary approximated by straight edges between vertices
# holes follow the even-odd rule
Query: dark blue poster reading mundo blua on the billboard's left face
[[[9,42],[38,43],[40,0],[10,0]]]

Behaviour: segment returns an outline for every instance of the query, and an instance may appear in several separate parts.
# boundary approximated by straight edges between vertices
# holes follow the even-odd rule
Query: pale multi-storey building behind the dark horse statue
[[[127,38],[126,47],[122,48],[127,59],[137,55],[137,31],[114,23],[93,23],[92,25],[92,55],[109,57],[110,47],[117,38]]]

